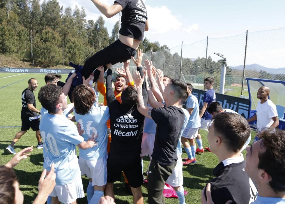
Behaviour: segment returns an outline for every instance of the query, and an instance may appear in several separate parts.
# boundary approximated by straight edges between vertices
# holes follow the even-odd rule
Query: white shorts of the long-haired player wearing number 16
[[[86,160],[79,156],[79,168],[81,175],[86,175],[92,179],[92,186],[104,186],[107,183],[107,158],[97,160]]]

